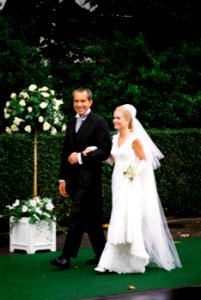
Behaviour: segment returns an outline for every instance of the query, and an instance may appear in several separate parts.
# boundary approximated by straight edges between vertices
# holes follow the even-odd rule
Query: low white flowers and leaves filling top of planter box
[[[7,205],[4,216],[12,217],[12,226],[22,217],[29,217],[30,224],[38,221],[56,221],[54,204],[50,198],[15,200],[12,205]]]

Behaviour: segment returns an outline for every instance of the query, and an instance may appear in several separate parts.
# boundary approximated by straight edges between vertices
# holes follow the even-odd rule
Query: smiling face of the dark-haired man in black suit
[[[83,116],[89,107],[91,107],[93,103],[92,99],[88,99],[88,94],[86,91],[80,93],[75,92],[73,96],[73,107],[76,113],[78,113],[80,116]]]

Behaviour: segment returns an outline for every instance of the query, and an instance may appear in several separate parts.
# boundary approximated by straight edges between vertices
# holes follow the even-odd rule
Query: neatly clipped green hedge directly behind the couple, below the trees
[[[149,130],[165,155],[156,171],[159,196],[167,216],[201,216],[201,130]],[[70,203],[58,193],[58,170],[63,134],[38,136],[38,195],[51,197],[57,218],[68,219]],[[104,222],[111,211],[112,168],[103,167]],[[15,199],[32,197],[33,137],[0,134],[0,214]]]

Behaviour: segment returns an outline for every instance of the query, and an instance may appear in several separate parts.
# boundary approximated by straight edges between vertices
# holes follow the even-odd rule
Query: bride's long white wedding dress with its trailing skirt
[[[181,267],[158,197],[153,167],[147,163],[132,181],[124,174],[131,162],[139,164],[131,146],[136,138],[132,133],[118,147],[118,134],[113,136],[112,212],[107,243],[96,271],[143,273],[146,266],[166,270]]]

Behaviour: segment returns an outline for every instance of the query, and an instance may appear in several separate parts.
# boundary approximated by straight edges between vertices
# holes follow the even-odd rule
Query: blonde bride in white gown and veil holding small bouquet
[[[112,212],[107,242],[96,272],[144,273],[157,266],[170,271],[181,262],[157,193],[154,169],[164,156],[130,104],[113,116]],[[85,155],[90,149],[85,150]]]

